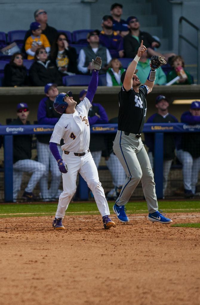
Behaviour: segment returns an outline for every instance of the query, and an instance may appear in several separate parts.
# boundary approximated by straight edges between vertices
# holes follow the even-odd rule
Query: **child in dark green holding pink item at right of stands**
[[[176,81],[174,85],[191,85],[193,83],[192,77],[189,72],[183,69],[185,63],[180,55],[173,56],[170,61],[170,64],[173,70],[167,74],[167,82],[172,81],[177,76],[180,76],[180,79]]]

